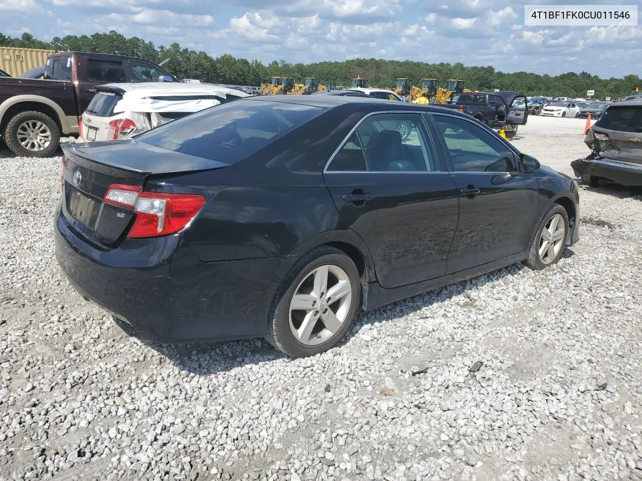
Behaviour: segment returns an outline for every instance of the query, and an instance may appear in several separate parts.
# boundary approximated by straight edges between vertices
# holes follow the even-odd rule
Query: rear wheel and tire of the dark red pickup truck
[[[20,112],[6,125],[4,142],[19,157],[46,157],[58,148],[60,130],[49,115]]]

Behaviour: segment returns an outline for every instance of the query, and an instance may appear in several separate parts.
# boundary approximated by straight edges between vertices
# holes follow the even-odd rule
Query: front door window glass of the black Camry
[[[435,115],[456,172],[517,172],[515,155],[482,127],[458,117]]]

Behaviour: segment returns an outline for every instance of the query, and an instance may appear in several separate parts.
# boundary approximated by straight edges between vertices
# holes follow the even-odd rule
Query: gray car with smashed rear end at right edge
[[[642,186],[642,98],[609,105],[584,142],[591,153],[571,162],[584,185]]]

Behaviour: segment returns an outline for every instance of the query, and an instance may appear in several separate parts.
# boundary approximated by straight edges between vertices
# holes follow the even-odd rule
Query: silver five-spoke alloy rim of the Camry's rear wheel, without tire
[[[290,330],[306,346],[331,339],[347,320],[352,285],[341,267],[325,264],[304,277],[290,301]]]

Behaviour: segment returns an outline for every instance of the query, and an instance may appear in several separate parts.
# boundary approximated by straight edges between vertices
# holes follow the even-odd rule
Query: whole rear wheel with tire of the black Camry
[[[301,257],[277,292],[266,340],[291,357],[332,348],[361,307],[359,273],[342,251],[320,246]]]

